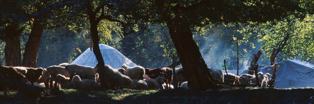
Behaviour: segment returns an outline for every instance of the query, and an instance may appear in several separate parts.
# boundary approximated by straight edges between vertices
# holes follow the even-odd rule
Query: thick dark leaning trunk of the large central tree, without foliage
[[[188,25],[176,26],[174,21],[168,21],[167,27],[180,57],[182,67],[184,67],[184,74],[188,81],[187,86],[196,91],[211,89],[209,85],[212,85],[212,79],[214,78],[208,71],[199,48],[193,40],[190,27]]]

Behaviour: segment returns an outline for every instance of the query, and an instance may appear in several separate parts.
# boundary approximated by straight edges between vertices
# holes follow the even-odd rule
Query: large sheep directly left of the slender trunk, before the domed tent
[[[96,75],[98,70],[98,64],[95,67],[89,67],[78,64],[70,64],[65,66],[65,70],[70,73],[70,81],[72,81],[74,75],[86,76],[89,74]]]

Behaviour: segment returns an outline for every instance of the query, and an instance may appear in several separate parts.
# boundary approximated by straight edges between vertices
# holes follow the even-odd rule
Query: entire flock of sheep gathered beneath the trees
[[[123,87],[131,89],[171,89],[172,69],[163,68],[144,68],[141,66],[129,67],[125,64],[121,68],[114,69],[105,65],[104,71],[98,71],[98,64],[95,67],[62,63],[58,66],[44,68],[30,67],[7,67],[1,66],[0,73],[11,79],[22,80],[31,85],[40,87],[51,87],[60,89],[88,89],[92,90],[100,87],[99,74],[105,75],[106,80],[111,87]],[[256,87],[255,76],[243,74],[236,76],[234,74],[224,74],[222,70],[208,68],[213,77],[221,82],[231,84],[245,84],[250,87]],[[183,69],[175,70],[176,79],[179,87],[188,88],[187,80],[183,75]],[[263,75],[258,73],[258,79],[262,87],[268,87],[270,74]],[[228,78],[229,77],[229,78]],[[169,85],[169,86],[168,86]]]

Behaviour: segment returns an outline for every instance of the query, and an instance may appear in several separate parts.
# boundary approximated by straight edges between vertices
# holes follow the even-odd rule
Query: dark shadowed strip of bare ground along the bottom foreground
[[[313,88],[275,89],[241,88],[226,91],[197,92],[177,88],[136,99],[112,100],[104,97],[54,96],[39,97],[35,102],[27,99],[0,96],[1,104],[39,103],[39,104],[314,104]]]

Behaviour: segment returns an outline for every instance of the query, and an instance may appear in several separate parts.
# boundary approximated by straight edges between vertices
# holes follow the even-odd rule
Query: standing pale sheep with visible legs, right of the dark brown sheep
[[[52,87],[57,87],[58,83],[54,83],[53,85],[53,81],[55,81],[55,78],[57,77],[58,74],[61,74],[65,77],[70,77],[70,74],[67,70],[65,70],[65,67],[60,67],[60,66],[50,66],[46,68],[47,72],[50,74],[50,88]]]

